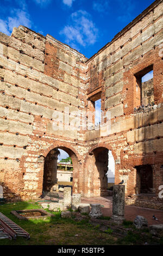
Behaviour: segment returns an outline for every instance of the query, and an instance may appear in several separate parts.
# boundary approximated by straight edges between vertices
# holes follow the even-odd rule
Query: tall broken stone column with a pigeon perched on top
[[[114,185],[112,195],[112,220],[118,224],[124,221],[125,186]]]

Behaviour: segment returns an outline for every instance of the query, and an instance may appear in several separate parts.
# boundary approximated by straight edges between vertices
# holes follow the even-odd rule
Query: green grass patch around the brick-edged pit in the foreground
[[[9,217],[30,234],[30,239],[17,237],[16,240],[1,239],[1,245],[114,245],[114,237],[109,237],[94,227],[89,220],[76,221],[73,218],[61,218],[61,212],[52,212],[53,217],[45,220],[18,220],[10,214],[13,210],[40,209],[41,205],[28,201],[5,203],[0,212]],[[96,235],[95,235],[96,230]]]

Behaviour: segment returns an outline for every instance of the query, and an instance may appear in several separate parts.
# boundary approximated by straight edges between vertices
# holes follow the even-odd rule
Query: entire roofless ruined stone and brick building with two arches
[[[4,198],[36,199],[51,190],[59,149],[73,162],[73,193],[105,196],[111,150],[126,203],[163,209],[162,10],[163,1],[155,1],[90,59],[23,26],[0,34]],[[149,71],[152,80],[142,83]],[[97,129],[88,115],[98,99],[110,123],[104,115],[108,126]]]

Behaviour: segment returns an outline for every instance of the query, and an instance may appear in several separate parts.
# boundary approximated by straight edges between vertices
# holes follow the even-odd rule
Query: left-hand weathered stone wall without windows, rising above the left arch
[[[83,143],[84,135],[68,128],[73,112],[84,108],[86,58],[23,26],[11,36],[1,33],[0,42],[0,179],[7,198],[37,197],[49,148],[65,142],[75,150],[76,141]],[[65,107],[70,126],[55,130],[57,114],[64,115]]]

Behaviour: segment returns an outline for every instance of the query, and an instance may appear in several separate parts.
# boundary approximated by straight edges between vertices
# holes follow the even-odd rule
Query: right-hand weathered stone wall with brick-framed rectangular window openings
[[[115,183],[124,180],[127,203],[160,209],[162,199],[158,194],[159,186],[163,185],[162,7],[162,1],[155,1],[86,61],[87,95],[92,96],[101,88],[102,111],[110,112],[111,129],[108,136],[102,129],[85,133],[90,148],[101,145],[114,153]],[[140,102],[137,74],[143,76],[151,67],[153,80],[142,83]],[[150,99],[145,95],[146,89],[152,89]],[[147,100],[154,106],[147,106]],[[137,194],[135,166],[143,164],[153,168],[154,193],[150,196]]]

